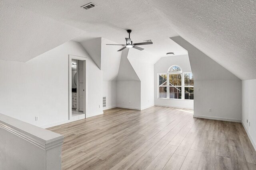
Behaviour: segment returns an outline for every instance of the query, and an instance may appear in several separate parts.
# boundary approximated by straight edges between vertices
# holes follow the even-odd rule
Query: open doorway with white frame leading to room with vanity
[[[86,57],[69,55],[69,120],[86,117]]]

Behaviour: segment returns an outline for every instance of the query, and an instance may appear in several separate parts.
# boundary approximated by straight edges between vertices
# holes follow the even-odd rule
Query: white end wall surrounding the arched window
[[[167,73],[172,65],[178,65],[183,72],[191,72],[188,55],[162,57],[154,65],[154,100],[156,106],[194,108],[194,100],[175,100],[158,98],[158,73]]]

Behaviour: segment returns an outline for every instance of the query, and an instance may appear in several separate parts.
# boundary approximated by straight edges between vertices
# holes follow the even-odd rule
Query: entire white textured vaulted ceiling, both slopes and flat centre
[[[156,58],[166,52],[186,54],[169,37],[180,35],[242,80],[256,79],[256,2],[195,0],[2,0],[0,59],[28,61],[70,39],[88,35],[124,43],[132,29],[134,43]],[[81,34],[82,33],[82,34]],[[76,37],[76,38],[74,38]],[[155,59],[152,59],[155,60]]]

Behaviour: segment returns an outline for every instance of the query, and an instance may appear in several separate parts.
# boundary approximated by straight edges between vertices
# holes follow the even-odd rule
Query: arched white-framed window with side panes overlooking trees
[[[158,98],[194,99],[194,79],[191,72],[182,72],[173,65],[167,73],[158,74]]]

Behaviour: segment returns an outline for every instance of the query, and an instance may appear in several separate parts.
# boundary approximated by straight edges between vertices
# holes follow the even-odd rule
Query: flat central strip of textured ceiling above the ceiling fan
[[[152,39],[153,45],[144,45],[146,51],[156,57],[166,57],[167,52],[176,55],[186,54],[169,37],[178,34],[172,29],[170,23],[155,13],[154,8],[146,0],[8,0],[13,4],[20,4],[23,8],[62,21],[72,27],[85,31],[73,39],[83,42],[91,37],[103,37],[116,43],[125,43],[128,37],[126,29],[132,29],[133,43]],[[96,8],[84,10],[80,6],[93,2]]]

